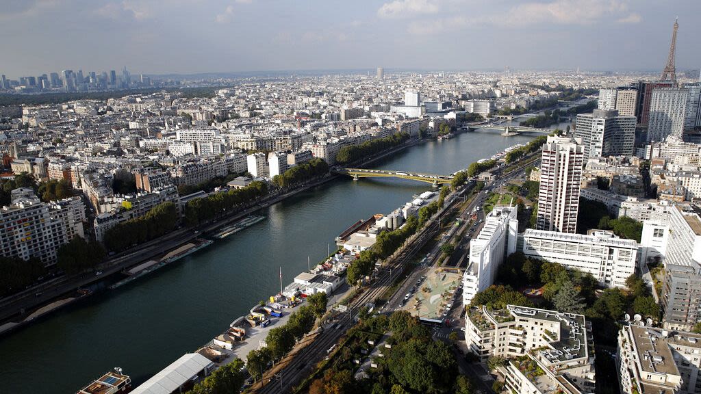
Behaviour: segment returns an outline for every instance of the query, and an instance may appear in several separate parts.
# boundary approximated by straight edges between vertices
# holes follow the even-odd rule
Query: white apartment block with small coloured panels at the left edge
[[[11,205],[0,209],[1,255],[56,263],[56,252],[74,236],[84,237],[85,206],[79,197],[42,203],[29,193],[13,193]],[[30,195],[31,194],[31,195]]]

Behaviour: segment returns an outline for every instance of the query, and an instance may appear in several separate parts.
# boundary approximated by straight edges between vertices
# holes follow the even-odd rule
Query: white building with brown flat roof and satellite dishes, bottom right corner
[[[701,393],[701,335],[625,325],[618,332],[623,394]]]

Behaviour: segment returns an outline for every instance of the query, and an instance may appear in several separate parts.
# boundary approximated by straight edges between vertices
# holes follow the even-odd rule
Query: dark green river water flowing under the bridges
[[[477,130],[410,147],[372,168],[447,175],[531,138]],[[271,205],[248,229],[0,339],[0,393],[75,393],[112,367],[142,383],[278,292],[280,267],[287,285],[306,271],[307,256],[326,257],[353,222],[428,189],[343,177]]]

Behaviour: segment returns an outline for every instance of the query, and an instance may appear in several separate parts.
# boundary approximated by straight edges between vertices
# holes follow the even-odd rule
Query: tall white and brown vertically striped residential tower
[[[584,163],[581,140],[547,137],[541,161],[536,229],[574,233]]]

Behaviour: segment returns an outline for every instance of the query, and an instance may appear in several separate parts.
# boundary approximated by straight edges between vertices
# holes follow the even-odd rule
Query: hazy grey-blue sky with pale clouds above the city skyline
[[[701,0],[2,0],[0,74],[701,67]]]

